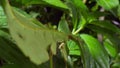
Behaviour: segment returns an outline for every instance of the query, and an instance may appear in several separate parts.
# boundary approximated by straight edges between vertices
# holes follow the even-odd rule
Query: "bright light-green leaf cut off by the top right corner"
[[[119,0],[96,0],[97,3],[107,10],[111,10],[119,5]]]

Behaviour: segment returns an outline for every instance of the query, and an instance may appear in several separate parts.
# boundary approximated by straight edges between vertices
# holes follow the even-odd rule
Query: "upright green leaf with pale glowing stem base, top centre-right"
[[[67,0],[67,5],[72,13],[73,30],[76,34],[84,28],[88,15],[88,8],[82,0]]]

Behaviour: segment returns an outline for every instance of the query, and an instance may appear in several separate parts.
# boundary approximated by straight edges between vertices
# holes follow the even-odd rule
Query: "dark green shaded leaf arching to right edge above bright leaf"
[[[96,22],[97,23],[97,22]],[[100,22],[99,22],[100,23]],[[115,27],[114,25],[110,25],[110,22],[108,22],[108,25],[111,27],[104,25],[106,22],[101,22],[100,24],[95,24],[94,25],[88,25],[87,27],[90,28],[92,31],[97,32],[105,36],[106,38],[109,38],[109,40],[113,43],[114,47],[119,50],[119,28]],[[118,34],[118,35],[117,35]]]

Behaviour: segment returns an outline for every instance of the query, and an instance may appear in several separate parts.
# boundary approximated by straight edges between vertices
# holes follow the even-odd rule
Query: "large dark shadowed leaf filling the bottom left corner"
[[[5,61],[2,67],[14,67],[14,65],[16,67],[19,65],[18,67],[21,68],[36,68],[36,65],[30,62],[13,42],[0,36],[0,43],[0,58]]]

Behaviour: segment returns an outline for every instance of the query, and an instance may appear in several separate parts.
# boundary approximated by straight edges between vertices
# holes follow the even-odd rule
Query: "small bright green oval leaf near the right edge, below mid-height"
[[[116,57],[117,50],[108,39],[104,41],[104,46],[110,56]]]

